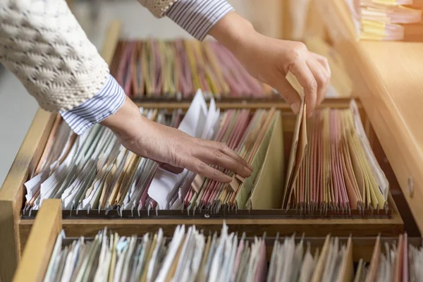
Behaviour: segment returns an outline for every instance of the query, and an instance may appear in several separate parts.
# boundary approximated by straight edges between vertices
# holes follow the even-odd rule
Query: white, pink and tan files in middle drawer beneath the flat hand
[[[117,209],[118,212],[244,209],[247,205],[271,209],[280,205],[278,187],[282,176],[278,173],[269,179],[266,175],[272,172],[269,168],[262,173],[265,163],[273,170],[283,169],[279,111],[228,110],[220,113],[213,99],[207,106],[201,91],[197,92],[185,114],[180,110],[172,113],[157,109],[140,111],[147,118],[188,135],[226,143],[252,164],[252,176],[244,179],[224,171],[233,176],[233,182],[223,185],[186,169],[182,173],[171,173],[154,161],[125,149],[107,128],[95,125],[84,135],[75,137],[68,125],[58,118],[37,168],[25,183],[24,212],[39,209],[42,201],[49,198],[61,199],[63,209],[88,212],[92,209]],[[269,149],[270,146],[274,149]],[[263,181],[266,185],[260,185]],[[259,186],[264,188],[257,188]],[[261,197],[262,193],[266,196]]]

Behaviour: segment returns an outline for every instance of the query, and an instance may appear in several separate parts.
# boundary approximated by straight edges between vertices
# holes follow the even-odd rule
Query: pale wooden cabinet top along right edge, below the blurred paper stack
[[[357,48],[366,68],[358,96],[423,231],[423,43],[360,42]]]

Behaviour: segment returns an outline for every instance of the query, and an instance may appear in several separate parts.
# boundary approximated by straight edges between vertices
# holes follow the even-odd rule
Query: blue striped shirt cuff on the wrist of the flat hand
[[[116,113],[125,102],[125,97],[121,85],[109,75],[102,90],[94,97],[69,111],[61,111],[60,114],[73,132],[80,135],[94,124]]]

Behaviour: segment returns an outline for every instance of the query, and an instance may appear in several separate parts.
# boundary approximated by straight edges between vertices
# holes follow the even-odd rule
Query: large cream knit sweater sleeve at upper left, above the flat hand
[[[65,0],[0,0],[0,61],[47,111],[79,106],[109,79]]]

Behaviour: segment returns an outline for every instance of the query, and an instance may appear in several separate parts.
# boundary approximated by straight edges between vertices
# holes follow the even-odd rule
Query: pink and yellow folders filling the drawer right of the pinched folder
[[[374,157],[355,102],[303,111],[295,124],[282,208],[307,213],[384,209],[388,180]]]

